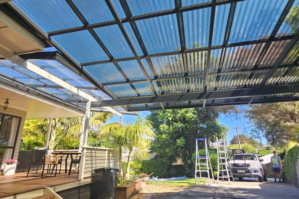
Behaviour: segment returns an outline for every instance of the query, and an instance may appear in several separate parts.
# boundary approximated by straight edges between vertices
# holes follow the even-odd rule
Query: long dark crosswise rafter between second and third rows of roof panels
[[[243,41],[243,42],[236,42],[236,43],[229,43],[229,44],[227,43],[224,45],[212,46],[211,50],[225,49],[225,48],[245,46],[245,45],[253,45],[253,44],[260,44],[260,43],[269,43],[269,42],[273,42],[273,41],[284,41],[284,40],[290,40],[290,39],[294,39],[294,38],[296,38],[296,35],[288,35],[288,36],[276,37],[276,38],[272,38],[272,39],[258,39],[258,40],[252,40],[252,41]],[[179,54],[201,52],[201,51],[207,51],[207,50],[208,50],[208,47],[201,47],[201,48],[185,49],[184,51],[172,51],[172,52],[165,52],[165,53],[149,54],[149,55],[139,56],[139,58],[140,59],[149,59],[152,57],[179,55]],[[114,62],[128,61],[128,60],[136,60],[136,57],[126,57],[126,58],[120,58],[120,59],[115,59],[115,60],[86,62],[86,63],[82,63],[81,65],[82,66],[91,66],[91,65],[97,65],[97,64],[114,63]]]

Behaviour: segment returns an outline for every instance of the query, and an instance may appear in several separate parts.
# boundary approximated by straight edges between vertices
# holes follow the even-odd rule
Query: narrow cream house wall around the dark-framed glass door
[[[13,154],[13,158],[17,159],[19,150],[20,150],[21,137],[23,134],[23,128],[24,128],[24,123],[25,123],[25,118],[26,118],[27,112],[23,111],[23,110],[12,108],[12,107],[8,107],[6,109],[6,111],[4,111],[4,109],[0,107],[0,113],[21,117],[20,127],[18,130],[16,145],[15,145],[14,154]]]

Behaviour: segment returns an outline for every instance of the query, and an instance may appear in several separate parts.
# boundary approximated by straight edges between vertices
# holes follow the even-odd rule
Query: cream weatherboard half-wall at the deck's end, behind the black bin
[[[86,154],[85,160],[82,162],[84,178],[92,176],[94,169],[103,167],[119,168],[119,150],[87,146],[82,148],[82,153]]]

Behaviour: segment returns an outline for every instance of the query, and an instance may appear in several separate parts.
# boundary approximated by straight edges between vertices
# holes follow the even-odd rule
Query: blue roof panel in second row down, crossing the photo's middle
[[[180,50],[175,14],[136,21],[149,54]]]

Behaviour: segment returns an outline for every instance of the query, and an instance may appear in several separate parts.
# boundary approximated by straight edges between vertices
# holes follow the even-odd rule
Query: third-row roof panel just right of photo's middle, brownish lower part
[[[184,76],[182,55],[169,55],[150,58],[158,78]]]

